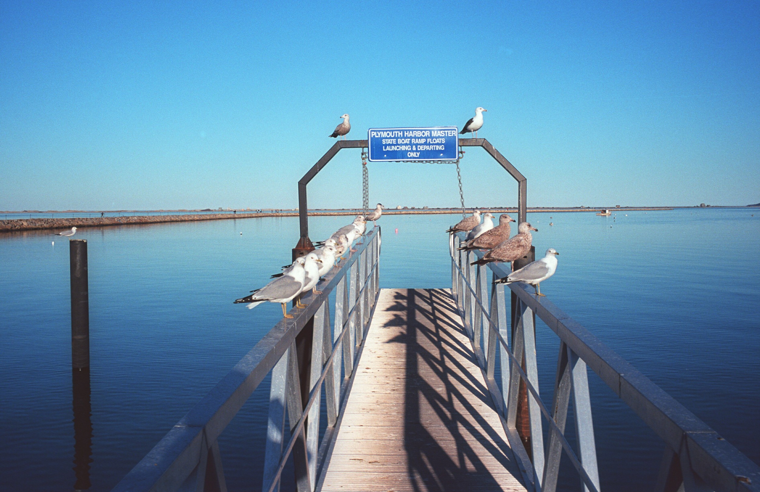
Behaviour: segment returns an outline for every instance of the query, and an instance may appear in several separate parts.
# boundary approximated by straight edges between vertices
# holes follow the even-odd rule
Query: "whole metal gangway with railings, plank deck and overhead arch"
[[[486,140],[459,141],[485,148],[518,180],[523,221],[525,178]],[[294,256],[312,248],[306,184],[340,149],[363,147],[337,142],[299,181]],[[380,289],[381,232],[370,229],[321,294],[302,298],[306,308],[291,309],[294,318],[280,320],[114,492],[226,492],[218,437],[270,374],[266,492],[280,490],[289,464],[299,492],[551,492],[562,456],[583,490],[598,491],[589,368],[663,440],[656,492],[760,491],[760,467],[711,427],[529,285],[494,282],[508,275],[504,265],[471,265],[482,253],[458,251],[464,235],[448,239],[451,289]],[[550,408],[539,393],[535,317],[560,341]],[[571,402],[575,448],[565,437]]]

